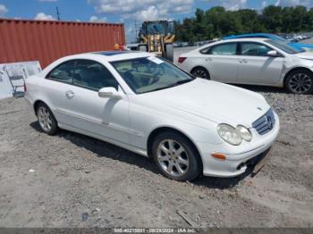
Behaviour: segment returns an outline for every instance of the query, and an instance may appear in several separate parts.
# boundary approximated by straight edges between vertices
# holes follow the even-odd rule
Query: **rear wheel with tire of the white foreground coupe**
[[[57,121],[55,120],[54,114],[51,112],[49,107],[47,107],[47,104],[38,104],[36,113],[40,129],[48,135],[55,135],[58,130]]]

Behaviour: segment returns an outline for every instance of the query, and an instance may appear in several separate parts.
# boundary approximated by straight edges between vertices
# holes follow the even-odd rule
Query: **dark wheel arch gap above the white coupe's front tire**
[[[182,130],[177,130],[170,126],[157,127],[157,129],[152,130],[150,132],[150,134],[148,135],[148,140],[147,140],[147,155],[149,157],[152,155],[152,145],[153,145],[154,139],[157,138],[158,134],[160,134],[161,132],[165,132],[165,131],[173,131],[181,135],[183,138],[186,138],[190,142],[191,146],[193,146],[194,150],[197,152],[199,164],[201,166],[201,170],[203,171],[203,160],[200,155],[198,146],[192,141],[192,139],[187,134],[183,133]]]

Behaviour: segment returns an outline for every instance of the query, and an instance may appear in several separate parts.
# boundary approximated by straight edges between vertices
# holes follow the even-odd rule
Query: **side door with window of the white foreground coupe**
[[[76,60],[71,75],[72,84],[62,88],[56,110],[64,127],[128,144],[129,101],[111,72],[95,61]],[[116,88],[123,98],[99,97],[98,90],[106,87]]]

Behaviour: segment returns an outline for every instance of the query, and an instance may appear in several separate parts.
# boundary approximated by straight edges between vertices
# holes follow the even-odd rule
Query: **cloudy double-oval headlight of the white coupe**
[[[233,146],[241,145],[241,140],[251,141],[252,134],[249,129],[242,125],[238,125],[237,128],[228,125],[226,123],[221,123],[217,126],[218,135],[224,139],[227,143]]]

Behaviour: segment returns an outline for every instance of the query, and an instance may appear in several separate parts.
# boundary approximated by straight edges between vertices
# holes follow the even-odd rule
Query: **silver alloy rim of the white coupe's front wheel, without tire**
[[[165,139],[157,146],[157,161],[171,176],[179,177],[189,169],[189,155],[186,149],[172,139]]]

